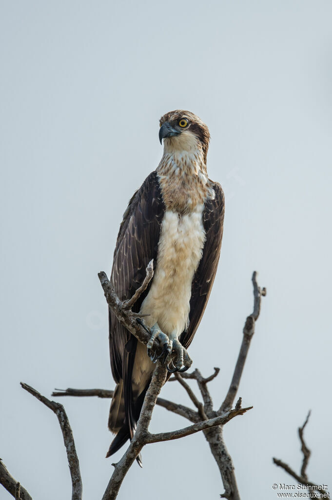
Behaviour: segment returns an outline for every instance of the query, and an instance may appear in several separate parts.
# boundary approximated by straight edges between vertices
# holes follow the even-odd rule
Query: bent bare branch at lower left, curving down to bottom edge
[[[80,465],[76,453],[73,432],[71,430],[67,414],[62,404],[56,401],[50,401],[47,397],[43,396],[36,389],[30,385],[20,382],[23,389],[39,399],[45,406],[50,408],[57,416],[61,427],[64,445],[67,451],[67,459],[70,470],[71,484],[72,484],[72,500],[82,500],[83,486],[80,472]]]

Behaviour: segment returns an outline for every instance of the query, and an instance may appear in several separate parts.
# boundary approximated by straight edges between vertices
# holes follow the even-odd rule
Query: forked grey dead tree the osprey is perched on
[[[150,263],[152,266],[152,262]],[[134,318],[134,313],[129,310],[129,308],[133,305],[133,303],[137,300],[138,296],[144,289],[146,289],[147,284],[149,283],[151,279],[151,271],[152,269],[147,268],[147,278],[145,279],[145,282],[143,283],[142,287],[138,290],[138,293],[136,296],[134,295],[132,298],[129,299],[125,302],[122,302],[117,294],[115,293],[115,290],[108,280],[106,274],[104,272],[100,272],[99,279],[101,281],[101,284],[104,289],[105,297],[108,302],[108,305],[110,308],[113,309],[114,313],[116,314],[117,318],[119,321],[124,324],[124,326],[131,332],[133,333],[138,340],[140,340],[143,343],[147,343],[150,339],[150,334],[149,331],[147,331],[144,326],[141,328],[138,323],[137,319]],[[262,295],[265,295],[266,290],[263,289],[261,290],[256,281],[256,275],[257,273],[254,272],[252,281],[253,281],[253,286],[254,286],[254,310],[253,313],[248,316],[246,324],[243,329],[244,333],[244,339],[248,343],[246,346],[246,352],[243,361],[241,361],[242,367],[240,373],[238,373],[238,370],[235,369],[236,376],[238,377],[238,381],[241,377],[242,374],[242,369],[243,369],[243,364],[245,357],[247,355],[247,351],[249,348],[249,342],[250,339],[254,333],[254,325],[255,325],[255,320],[259,316],[259,311],[260,311],[260,299]],[[151,276],[151,277],[150,277]],[[249,341],[248,341],[249,340]],[[156,349],[160,348],[160,346],[157,346]],[[242,347],[241,347],[242,348]],[[241,354],[241,352],[240,352]],[[240,355],[239,355],[240,358]],[[239,360],[237,363],[237,368],[239,368]],[[235,372],[233,375],[233,381],[234,381],[234,376]],[[165,371],[165,366],[160,365],[158,363],[157,369],[155,370],[155,373],[152,378],[152,382],[150,384],[150,387],[147,391],[146,398],[144,401],[143,408],[141,410],[141,415],[140,419],[138,422],[138,426],[136,429],[136,432],[133,436],[133,439],[122,457],[122,459],[117,463],[113,464],[115,466],[115,470],[112,474],[112,477],[110,479],[110,482],[107,486],[107,489],[105,491],[103,500],[112,500],[115,499],[119,488],[121,486],[121,483],[129,470],[129,467],[132,465],[133,461],[135,458],[138,456],[140,453],[141,449],[143,446],[147,443],[150,442],[157,442],[161,440],[170,440],[170,439],[178,439],[180,437],[184,437],[186,435],[190,435],[195,432],[199,432],[202,430],[205,434],[206,439],[208,440],[211,451],[213,453],[213,456],[215,457],[217,464],[219,466],[222,479],[224,482],[225,486],[225,492],[223,493],[223,497],[229,498],[231,500],[239,500],[240,496],[238,493],[237,485],[236,485],[236,479],[234,475],[234,467],[232,464],[231,457],[227,451],[226,446],[224,445],[223,438],[222,438],[222,425],[224,425],[227,421],[229,421],[231,418],[238,414],[243,414],[245,413],[249,408],[241,408],[241,398],[239,398],[238,402],[236,403],[235,409],[230,409],[227,407],[227,411],[222,411],[221,408],[219,409],[219,412],[217,413],[216,411],[213,410],[213,404],[212,404],[212,398],[211,395],[207,389],[207,383],[213,378],[215,378],[219,373],[219,368],[214,368],[214,373],[210,375],[209,377],[204,378],[200,371],[198,369],[195,369],[191,373],[182,373],[182,374],[176,374],[170,380],[178,380],[179,383],[185,388],[187,391],[191,401],[194,403],[196,408],[198,409],[198,412],[193,411],[191,408],[188,408],[186,406],[174,403],[172,401],[168,401],[166,399],[158,398],[157,396],[160,392],[160,389],[165,382],[166,378],[166,371]],[[195,379],[198,383],[200,392],[202,394],[203,400],[204,400],[204,406],[203,404],[197,399],[195,394],[193,393],[192,389],[190,386],[184,381],[184,379]],[[234,385],[234,384],[233,384]],[[231,388],[230,388],[231,389]],[[232,398],[228,397],[228,400],[233,403],[235,395],[236,395],[237,387],[236,390],[234,391],[234,388],[232,388]],[[57,391],[53,392],[53,395],[57,396],[62,396],[62,395],[75,395],[75,396],[98,396],[98,397],[112,397],[113,392],[112,391],[106,391],[103,389],[67,389],[66,391]],[[229,394],[228,394],[229,395]],[[155,404],[160,404],[161,406],[165,407],[169,411],[172,411],[174,413],[177,413],[190,421],[194,422],[193,425],[190,425],[188,427],[185,427],[183,429],[179,429],[176,431],[172,432],[164,432],[164,433],[158,433],[158,434],[151,434],[148,431],[148,426],[151,420],[151,415],[152,415],[152,410]],[[201,420],[202,419],[202,420]]]

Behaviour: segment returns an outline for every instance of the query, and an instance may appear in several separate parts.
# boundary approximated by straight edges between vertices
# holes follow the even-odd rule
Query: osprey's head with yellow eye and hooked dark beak
[[[206,164],[209,146],[209,129],[198,116],[190,111],[176,109],[160,119],[159,140],[164,139],[165,152],[195,151],[200,149]]]

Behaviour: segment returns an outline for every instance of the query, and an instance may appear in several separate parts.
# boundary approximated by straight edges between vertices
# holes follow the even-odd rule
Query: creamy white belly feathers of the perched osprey
[[[157,322],[167,335],[178,336],[188,323],[191,283],[205,242],[202,212],[201,204],[186,215],[164,215],[156,271],[141,312],[150,314],[148,326]]]

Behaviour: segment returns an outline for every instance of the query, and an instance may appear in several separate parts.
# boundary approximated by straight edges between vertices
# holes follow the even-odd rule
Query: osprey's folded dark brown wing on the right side
[[[215,198],[205,202],[203,211],[206,241],[202,258],[192,281],[189,325],[180,335],[181,344],[185,348],[190,345],[203,316],[218,267],[224,224],[225,199],[220,184],[215,182],[213,189]]]

